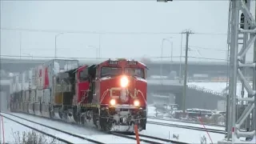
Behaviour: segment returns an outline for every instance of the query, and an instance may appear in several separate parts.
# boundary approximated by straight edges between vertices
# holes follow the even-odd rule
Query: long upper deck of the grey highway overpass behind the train
[[[30,67],[37,66],[47,59],[14,59],[14,58],[1,58],[1,67],[3,70],[9,72],[21,72],[28,70]],[[103,60],[80,60],[82,64],[97,64]],[[160,75],[160,68],[162,67],[162,75],[170,75],[170,72],[175,72],[178,76],[181,71],[184,70],[184,63],[180,62],[144,62],[150,69],[148,75]],[[225,76],[227,74],[226,62],[188,62],[188,74],[189,77],[193,77],[194,74],[208,74],[211,77]],[[181,70],[181,71],[180,71]]]

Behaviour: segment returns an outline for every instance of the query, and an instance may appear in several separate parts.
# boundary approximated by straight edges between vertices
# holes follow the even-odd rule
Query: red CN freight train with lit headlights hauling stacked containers
[[[10,110],[106,132],[146,130],[146,70],[124,58],[90,66],[53,59],[12,78]]]

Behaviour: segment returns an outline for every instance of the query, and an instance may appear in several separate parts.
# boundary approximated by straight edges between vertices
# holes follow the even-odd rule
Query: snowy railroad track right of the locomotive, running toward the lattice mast
[[[146,123],[154,124],[154,125],[160,125],[160,126],[171,126],[171,127],[178,127],[182,129],[189,129],[189,130],[199,130],[199,131],[205,131],[202,127],[195,127],[195,126],[182,126],[182,125],[176,125],[176,124],[170,124],[170,123],[162,123],[162,122],[150,122],[147,121]],[[209,129],[206,128],[208,132],[211,133],[217,133],[217,134],[225,134],[224,130],[215,130],[215,129]]]

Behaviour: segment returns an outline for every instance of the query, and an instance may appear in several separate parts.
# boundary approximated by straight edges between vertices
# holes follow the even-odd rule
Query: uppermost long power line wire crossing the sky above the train
[[[40,29],[25,29],[25,28],[6,28],[1,30],[26,31],[26,32],[42,32],[42,33],[70,33],[70,34],[182,34],[180,32],[114,32],[114,31],[89,31],[89,30],[40,30]],[[203,35],[226,35],[222,33],[195,33]]]

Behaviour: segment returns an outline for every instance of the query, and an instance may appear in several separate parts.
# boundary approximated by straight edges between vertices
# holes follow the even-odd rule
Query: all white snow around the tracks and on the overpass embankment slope
[[[197,86],[204,86],[207,89],[212,89],[215,91],[221,92],[223,89],[226,88],[226,83],[220,83],[220,82],[214,82],[214,83],[190,83]],[[208,86],[208,87],[207,87]],[[154,115],[155,108],[154,106],[148,107],[148,115]],[[8,118],[15,118],[8,114],[3,114],[3,116],[6,116]],[[75,126],[72,124],[67,124],[65,122],[56,122],[52,121],[47,118],[38,118],[36,116],[28,115],[28,114],[18,114],[14,113],[15,115],[18,115],[22,118],[27,118],[30,120],[33,120],[34,122],[42,122],[43,124],[47,126],[56,127],[61,130],[73,132],[74,134],[82,135],[86,138],[91,139],[97,139],[100,142],[106,142],[106,143],[136,143],[134,140],[129,139],[123,139],[111,134],[104,134],[101,131],[96,130],[94,127],[91,126]],[[47,132],[48,134],[54,134],[56,138],[65,138],[66,140],[74,143],[91,143],[91,142],[85,142],[78,138],[70,138],[70,136],[66,134],[60,134],[58,131],[50,130],[49,128],[46,128],[44,126],[36,125],[32,122],[26,122],[22,119],[15,118],[18,120],[18,122],[26,123],[26,125],[32,126],[34,128],[37,128],[38,130],[42,130]],[[200,124],[190,124],[190,123],[184,123],[184,122],[172,122],[170,120],[158,120],[158,119],[152,119],[148,118],[148,122],[162,122],[162,123],[171,123],[176,125],[182,125],[182,126],[195,126],[195,127],[203,127]],[[12,122],[7,118],[1,117],[0,118],[0,143],[18,143],[18,133],[20,136],[22,136],[23,132],[30,132],[31,130],[25,126],[22,126],[16,122]],[[218,126],[206,126],[206,128],[215,129],[215,130],[224,130],[223,127]],[[189,130],[189,129],[182,129],[177,127],[171,127],[171,126],[160,126],[156,124],[150,124],[147,123],[146,130],[142,130],[140,134],[150,135],[158,138],[165,138],[165,139],[171,139],[174,141],[179,142],[187,142],[187,143],[201,143],[201,139],[203,137],[206,138],[206,143],[211,143],[211,140],[213,143],[217,143],[218,141],[222,141],[224,138],[224,134],[216,134],[216,133],[209,133],[209,135],[206,133],[206,131],[199,131],[199,130]],[[173,138],[173,136],[176,135],[178,138]],[[46,143],[51,142],[53,139],[49,137],[44,137],[46,140]],[[57,140],[54,141],[55,143],[61,143]],[[242,143],[242,142],[239,142]],[[256,143],[256,139],[254,138],[251,143]]]

